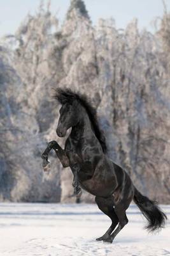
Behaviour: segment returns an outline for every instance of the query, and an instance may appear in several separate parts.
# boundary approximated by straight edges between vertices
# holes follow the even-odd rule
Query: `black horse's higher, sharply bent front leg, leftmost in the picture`
[[[69,159],[66,155],[66,152],[60,147],[60,145],[57,143],[57,141],[50,141],[48,143],[48,146],[45,149],[45,152],[41,155],[43,159],[43,169],[44,171],[49,171],[50,170],[50,162],[48,162],[48,154],[50,153],[51,150],[55,150],[55,153],[57,154],[57,157],[59,157],[60,162],[63,167],[68,167],[69,166]]]

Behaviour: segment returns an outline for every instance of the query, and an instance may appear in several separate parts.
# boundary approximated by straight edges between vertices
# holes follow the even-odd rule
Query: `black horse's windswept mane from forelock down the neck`
[[[86,109],[87,114],[89,115],[90,122],[96,134],[96,138],[101,143],[101,147],[103,148],[103,152],[107,152],[106,146],[106,139],[104,137],[103,132],[99,128],[99,123],[97,121],[97,113],[96,109],[92,106],[90,100],[87,98],[86,95],[73,92],[71,89],[68,88],[57,88],[55,89],[55,94],[53,95],[54,99],[57,99],[60,104],[71,104],[73,100],[78,100],[80,104]]]

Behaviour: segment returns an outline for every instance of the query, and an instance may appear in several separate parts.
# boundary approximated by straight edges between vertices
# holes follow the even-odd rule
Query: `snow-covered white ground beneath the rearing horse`
[[[170,219],[170,206],[162,209]],[[170,255],[170,222],[159,234],[143,230],[145,220],[135,205],[129,223],[113,244],[96,238],[110,226],[97,205],[0,204],[2,256],[161,256]]]

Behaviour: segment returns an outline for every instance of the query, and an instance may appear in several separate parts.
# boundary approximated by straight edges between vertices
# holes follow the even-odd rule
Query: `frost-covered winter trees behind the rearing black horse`
[[[72,0],[62,24],[41,2],[15,35],[0,40],[0,201],[75,202],[73,175],[55,152],[43,172],[59,104],[52,88],[87,93],[97,108],[109,156],[136,188],[170,203],[170,13],[152,33],[133,20],[126,29],[113,19],[94,26],[85,4]],[[81,202],[94,202],[83,191]]]

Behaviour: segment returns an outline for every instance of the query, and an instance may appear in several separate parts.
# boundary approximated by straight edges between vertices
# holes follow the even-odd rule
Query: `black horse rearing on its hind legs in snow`
[[[160,211],[155,202],[141,195],[125,170],[106,155],[106,142],[99,129],[96,109],[87,97],[69,89],[58,88],[55,91],[55,99],[62,105],[57,135],[64,137],[67,129],[72,129],[64,150],[56,141],[48,143],[42,154],[43,168],[46,170],[49,167],[48,153],[53,148],[62,166],[69,166],[73,172],[74,192],[80,193],[81,186],[96,196],[99,209],[111,219],[110,228],[102,237],[97,238],[97,241],[113,242],[118,232],[128,223],[125,211],[132,200],[148,220],[148,230],[154,231],[164,227],[164,212]]]

